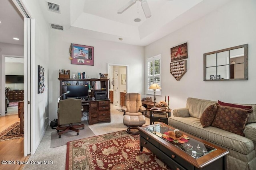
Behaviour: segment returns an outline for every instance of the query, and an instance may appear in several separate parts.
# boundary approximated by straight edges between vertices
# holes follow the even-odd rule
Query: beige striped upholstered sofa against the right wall
[[[251,109],[240,109],[236,108],[236,105],[222,106],[218,103],[220,103],[220,101],[188,98],[186,107],[172,111],[171,116],[168,117],[168,124],[176,129],[190,133],[228,150],[227,170],[256,170],[256,104],[237,104],[238,106],[252,106]],[[215,108],[215,110],[213,108]],[[225,108],[232,109],[232,113],[231,111],[225,113],[225,110],[228,110]],[[237,109],[243,112],[241,116],[245,116],[236,123],[243,124],[242,122],[244,122],[244,125],[239,125],[239,127],[229,125],[229,127],[227,127],[228,130],[226,130],[225,126],[218,127],[218,125],[225,125],[230,115],[231,117],[237,115]],[[208,127],[203,127],[205,122],[203,122],[202,119],[205,118],[206,113],[209,113],[209,110],[211,112],[209,114],[210,116],[216,115],[212,116],[212,122],[207,122]],[[235,110],[234,114],[233,110]],[[246,112],[244,110],[248,111]],[[224,118],[222,117],[222,119],[220,119],[219,117],[221,116],[224,116]],[[224,123],[220,123],[221,121]],[[239,134],[237,131],[234,131],[234,133],[233,130],[236,128],[242,128],[242,131],[240,131],[240,133],[242,133]]]

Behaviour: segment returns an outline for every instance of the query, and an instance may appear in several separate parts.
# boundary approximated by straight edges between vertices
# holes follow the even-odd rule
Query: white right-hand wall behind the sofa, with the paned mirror
[[[145,47],[145,58],[162,54],[162,97],[170,108],[185,107],[188,97],[234,103],[256,103],[256,1],[233,0],[182,29]],[[188,42],[187,72],[170,74],[170,48]],[[248,43],[249,80],[203,81],[203,54]]]

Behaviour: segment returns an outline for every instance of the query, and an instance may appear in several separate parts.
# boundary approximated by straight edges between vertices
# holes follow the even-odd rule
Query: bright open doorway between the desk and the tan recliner
[[[113,90],[114,99],[113,104],[121,107],[120,105],[120,92],[128,92],[128,65],[126,64],[110,64],[108,63],[108,75],[110,79],[110,88]],[[125,79],[124,79],[125,78]],[[113,81],[114,80],[114,81]]]

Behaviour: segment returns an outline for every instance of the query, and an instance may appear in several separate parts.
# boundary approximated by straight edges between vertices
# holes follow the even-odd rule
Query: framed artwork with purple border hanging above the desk
[[[94,47],[71,44],[71,64],[94,65]]]

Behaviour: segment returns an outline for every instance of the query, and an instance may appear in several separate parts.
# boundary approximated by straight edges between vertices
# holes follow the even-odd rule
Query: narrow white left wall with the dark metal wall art
[[[48,120],[44,117],[48,117],[48,63],[49,63],[49,25],[46,23],[42,16],[41,8],[38,1],[34,0],[22,0],[24,7],[28,10],[30,18],[35,21],[35,51],[32,52],[31,59],[31,80],[32,80],[32,92],[31,92],[31,130],[34,134],[32,139],[32,154],[36,151],[40,141],[42,140],[44,133],[46,132]],[[32,35],[33,36],[33,35]],[[32,41],[33,43],[33,41]],[[45,68],[44,72],[44,85],[46,90],[42,94],[38,94],[38,65]]]

